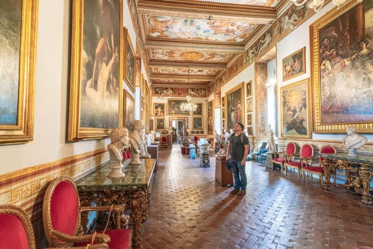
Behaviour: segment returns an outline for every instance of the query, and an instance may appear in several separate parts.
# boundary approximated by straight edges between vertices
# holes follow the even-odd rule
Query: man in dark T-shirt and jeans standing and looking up
[[[247,185],[245,164],[247,154],[249,153],[249,138],[242,133],[243,127],[241,123],[235,125],[234,133],[229,137],[226,157],[227,161],[230,160],[235,180],[234,189],[231,191],[231,194],[237,194],[237,196],[246,194]],[[230,159],[229,155],[231,155]]]

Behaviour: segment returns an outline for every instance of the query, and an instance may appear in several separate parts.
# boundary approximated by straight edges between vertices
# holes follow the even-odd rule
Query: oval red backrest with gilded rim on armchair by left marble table
[[[44,231],[50,245],[59,245],[51,236],[56,230],[76,235],[80,224],[79,195],[74,181],[69,177],[59,177],[48,186],[43,202]],[[70,244],[61,244],[67,247]]]

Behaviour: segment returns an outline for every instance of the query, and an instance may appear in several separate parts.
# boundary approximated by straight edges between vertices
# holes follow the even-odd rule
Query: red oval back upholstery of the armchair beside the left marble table
[[[61,181],[51,197],[51,221],[55,230],[73,235],[78,223],[78,196],[74,186]]]

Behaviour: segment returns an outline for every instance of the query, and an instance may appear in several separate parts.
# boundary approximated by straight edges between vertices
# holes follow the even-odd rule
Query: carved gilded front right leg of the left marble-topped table
[[[142,216],[146,208],[147,193],[144,190],[138,190],[132,196],[132,219],[133,219],[133,239],[132,248],[142,249]]]

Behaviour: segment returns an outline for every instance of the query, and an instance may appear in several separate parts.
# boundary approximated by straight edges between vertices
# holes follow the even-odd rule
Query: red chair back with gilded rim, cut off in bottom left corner
[[[1,205],[0,224],[1,249],[35,249],[33,227],[23,210],[14,205]]]

